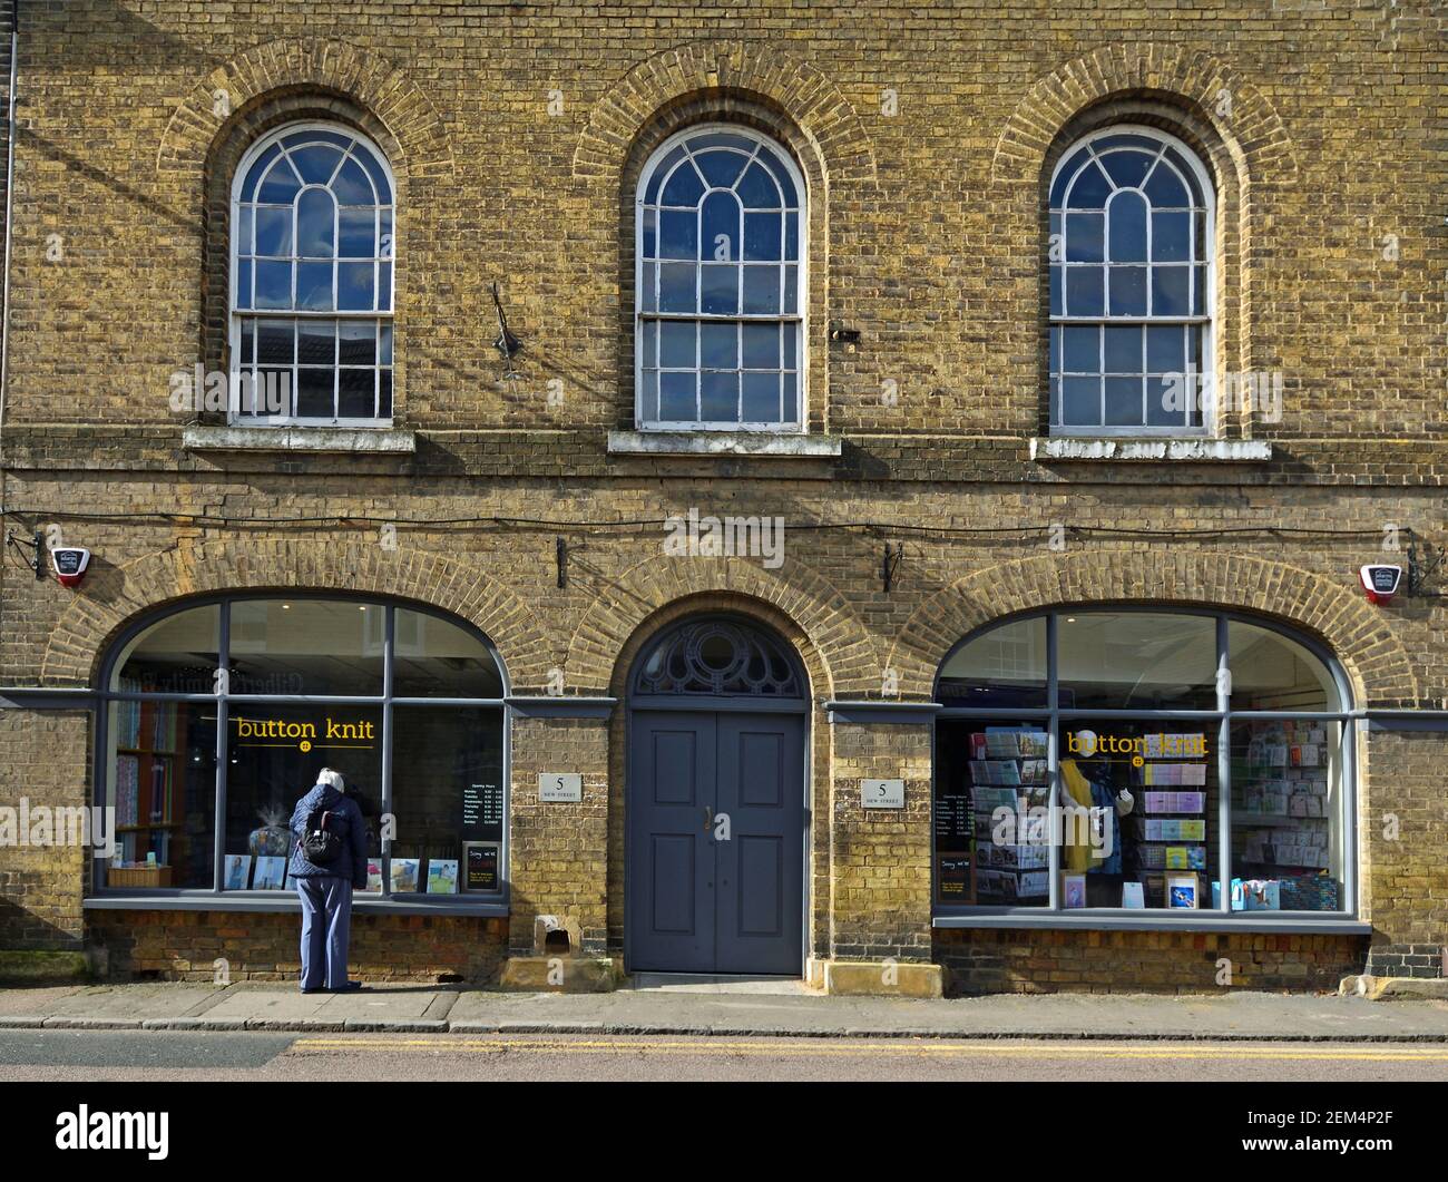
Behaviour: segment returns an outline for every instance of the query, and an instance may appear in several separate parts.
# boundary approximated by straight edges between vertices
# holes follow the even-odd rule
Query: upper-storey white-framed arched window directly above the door
[[[641,427],[799,430],[804,178],[747,127],[691,127],[639,178]]]

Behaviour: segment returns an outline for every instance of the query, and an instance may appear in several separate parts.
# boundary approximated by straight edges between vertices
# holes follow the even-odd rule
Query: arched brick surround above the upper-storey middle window
[[[762,96],[811,141],[831,181],[875,180],[875,149],[850,100],[815,67],[760,41],[689,42],[636,65],[594,103],[573,149],[573,177],[617,185],[647,120],[707,91]]]

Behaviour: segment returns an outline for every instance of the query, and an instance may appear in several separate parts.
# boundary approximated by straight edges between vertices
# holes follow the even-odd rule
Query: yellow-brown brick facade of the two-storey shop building
[[[653,840],[628,820],[637,675],[670,629],[721,619],[778,640],[807,682],[791,716],[801,831],[779,846],[798,836],[802,884],[766,901],[799,913],[802,973],[822,981],[828,966],[841,989],[869,988],[876,969],[879,988],[930,989],[935,978],[917,968],[946,966],[967,991],[1211,991],[1323,988],[1364,968],[1439,972],[1448,616],[1426,568],[1448,532],[1441,6],[85,0],[22,4],[19,22],[0,804],[114,802],[106,778],[125,752],[125,703],[104,678],[136,627],[167,611],[288,594],[426,610],[485,637],[501,668],[500,892],[359,902],[358,971],[495,979],[510,956],[562,947],[536,947],[539,915],[571,934],[571,957],[686,968],[643,965],[636,943],[640,908],[662,905],[630,894]],[[259,277],[268,253],[259,220],[256,249],[236,245],[242,210],[248,227],[261,217],[243,178],[265,162],[268,138],[295,127],[371,145],[387,171],[375,183],[392,187],[368,206],[391,210],[395,222],[369,225],[384,236],[391,225],[395,239],[374,242],[376,287],[356,322],[369,349],[374,332],[392,342],[390,359],[369,353],[368,390],[387,393],[362,417],[376,422],[352,422],[340,401],[332,422],[298,411],[272,424],[175,404],[177,374],[248,364],[239,349],[261,346],[242,342],[269,330],[235,296],[243,264]],[[681,429],[659,390],[682,388],[692,366],[686,380],[702,385],[689,388],[707,400],[707,353],[672,369],[665,353],[641,353],[650,316],[666,313],[650,306],[650,268],[666,300],[665,272],[681,265],[663,262],[678,255],[656,243],[644,188],[672,145],[702,154],[704,139],[688,136],[717,127],[767,145],[801,190],[770,214],[796,235],[778,255],[752,239],[744,204],[744,297],[731,288],[741,333],[798,332],[796,362],[776,353],[785,361],[760,371],[770,397],[785,391],[773,430],[738,430],[753,422],[744,411],[736,430]],[[1057,198],[1082,145],[1153,159],[1167,145],[1196,162],[1205,184],[1180,213],[1196,219],[1182,239],[1192,267],[1157,267],[1177,258],[1170,201],[1144,206],[1161,253],[1132,271],[1128,253],[1111,255],[1129,246],[1111,243],[1129,242],[1137,197],[1085,213]],[[665,214],[660,204],[660,235]],[[734,265],[738,248],[733,230],[711,245],[707,209],[701,217],[705,240],[689,239],[688,265],[704,277],[691,298],[707,301],[710,267]],[[1073,256],[1073,227],[1089,219],[1108,219],[1114,238]],[[287,264],[300,284],[297,233],[279,252],[300,259]],[[1064,259],[1053,253],[1063,235]],[[747,322],[759,249],[786,285],[757,310],[773,319]],[[1092,249],[1112,268],[1108,294],[1073,319],[1053,269],[1061,264],[1077,298],[1077,278],[1093,281]],[[1187,271],[1200,306],[1167,316],[1167,284]],[[1118,298],[1137,298],[1137,272],[1150,311],[1142,294],[1144,316],[1112,322]],[[384,304],[387,274],[395,303]],[[511,358],[495,346],[494,284],[521,339]],[[699,333],[724,323],[689,307]],[[1058,352],[1058,340],[1085,339],[1072,332],[1111,348],[1125,338],[1109,333],[1141,324],[1184,332],[1187,368],[1197,348],[1197,368],[1218,375],[1216,397],[1179,430],[1153,424],[1150,403],[1134,430],[1135,411],[1124,420],[1111,401],[1125,388],[1112,385],[1114,362],[1072,377]],[[657,332],[672,332],[666,317]],[[724,369],[743,385],[733,372],[720,381],[747,400],[749,364],[731,356]],[[1137,368],[1131,382],[1161,369],[1150,355]],[[294,372],[304,378],[300,362]],[[1105,422],[1073,417],[1083,381],[1105,400]],[[708,417],[705,401],[694,406]],[[780,561],[672,552],[666,519],[691,510],[779,519]],[[36,530],[45,545],[90,549],[78,588],[36,581],[19,561]],[[1412,592],[1368,603],[1358,568],[1406,568],[1409,546],[1425,568]],[[1235,747],[1203,772],[1208,807],[1221,805],[1206,823],[1225,824],[1205,830],[1205,866],[1192,863],[1206,872],[1190,915],[1124,911],[1125,900],[1072,915],[1064,881],[1030,908],[946,902],[940,727],[954,716],[969,730],[970,718],[941,697],[943,665],[995,624],[1048,616],[1054,653],[1060,613],[1129,621],[1142,608],[1219,613],[1224,637],[1257,621],[1338,678],[1342,692],[1319,707],[1338,720],[1295,743],[1292,759],[1310,746],[1315,762],[1321,746],[1332,768],[1326,800],[1339,811],[1323,831],[1339,847],[1329,876],[1341,905],[1212,910],[1219,868],[1257,878],[1237,872],[1239,842],[1253,839],[1232,811],[1245,807],[1251,762]],[[387,619],[376,652],[391,669],[401,642],[391,608]],[[1086,701],[1056,697],[1064,668],[1051,658],[1048,704],[1006,703],[1050,723],[1053,772],[1070,721],[1060,710]],[[1232,691],[1218,692],[1221,707]],[[1158,695],[1154,708],[1235,734],[1231,718],[1182,707],[1189,697],[1171,707]],[[718,726],[725,705],[712,707]],[[1290,713],[1281,701],[1257,708]],[[980,714],[979,729],[1003,717]],[[222,763],[236,765],[233,740],[220,736]],[[555,774],[579,775],[581,800],[540,798]],[[904,781],[902,802],[864,807],[862,779]],[[397,816],[405,829],[403,802]],[[209,833],[219,856],[233,852]],[[975,858],[972,839],[973,875]],[[210,978],[217,959],[233,976],[295,971],[290,897],[219,889],[220,868],[214,891],[110,882],[75,846],[0,849],[0,939],[103,949],[114,973]],[[847,976],[850,965],[869,979]]]

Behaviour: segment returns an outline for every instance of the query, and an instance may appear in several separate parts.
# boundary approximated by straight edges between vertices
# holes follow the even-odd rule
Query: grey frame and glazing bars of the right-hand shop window
[[[1231,669],[1228,663],[1228,626],[1231,623],[1251,624],[1258,629],[1274,632],[1296,645],[1323,663],[1337,690],[1337,710],[1234,710],[1231,695],[1224,688],[1222,678],[1216,678],[1216,708],[1215,710],[1100,710],[1090,707],[1060,705],[1060,681],[1057,668],[1057,642],[1060,619],[1064,616],[1085,614],[1170,614],[1182,617],[1208,617],[1216,621],[1216,669]],[[941,672],[957,652],[964,649],[986,633],[1006,624],[1019,623],[1028,619],[1045,619],[1045,705],[1044,707],[970,707],[947,705],[940,691]],[[1229,681],[1226,682],[1229,685]],[[1332,652],[1310,636],[1292,627],[1276,623],[1263,616],[1251,613],[1228,611],[1209,607],[1190,607],[1176,604],[1141,604],[1141,603],[1093,603],[1077,605],[1060,605],[1053,608],[1037,608],[1031,611],[1014,613],[992,620],[983,627],[975,629],[961,637],[944,655],[935,671],[935,685],[933,703],[937,710],[931,727],[931,837],[930,837],[930,898],[933,926],[935,927],[1080,927],[1096,930],[1186,930],[1186,931],[1370,931],[1370,926],[1360,921],[1360,853],[1357,810],[1360,801],[1358,789],[1358,755],[1357,755],[1357,720],[1360,711],[1354,710],[1352,688],[1341,663]],[[1060,792],[1060,734],[1061,723],[1073,718],[1080,720],[1121,720],[1121,721],[1157,721],[1157,723],[1202,723],[1209,739],[1215,734],[1218,760],[1218,813],[1212,818],[1216,823],[1216,837],[1209,843],[1215,849],[1215,859],[1209,862],[1209,869],[1200,873],[1206,907],[1195,910],[1150,908],[1137,910],[1127,907],[1082,907],[1067,908],[1061,898],[1061,859],[1060,846],[1050,846],[1050,895],[1044,907],[1001,907],[980,904],[948,904],[940,902],[938,856],[935,847],[935,788],[941,769],[938,762],[938,724],[950,720],[979,720],[982,723],[1002,724],[1032,724],[1047,732],[1047,775],[1051,785],[1051,802],[1058,802]],[[1232,829],[1231,829],[1231,732],[1232,724],[1244,720],[1302,720],[1338,723],[1338,743],[1341,759],[1341,811],[1337,817],[1344,850],[1342,863],[1342,908],[1338,911],[1232,911],[1231,892],[1226,885],[1232,879]],[[1209,855],[1211,858],[1211,855]],[[1219,907],[1211,905],[1212,882],[1221,879]]]

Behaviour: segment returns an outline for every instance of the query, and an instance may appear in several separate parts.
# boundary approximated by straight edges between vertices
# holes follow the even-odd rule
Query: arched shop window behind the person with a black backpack
[[[226,598],[133,629],[103,687],[97,784],[119,844],[107,889],[275,900],[291,885],[297,800],[334,768],[369,821],[369,892],[502,894],[504,676],[462,621],[371,600]]]

